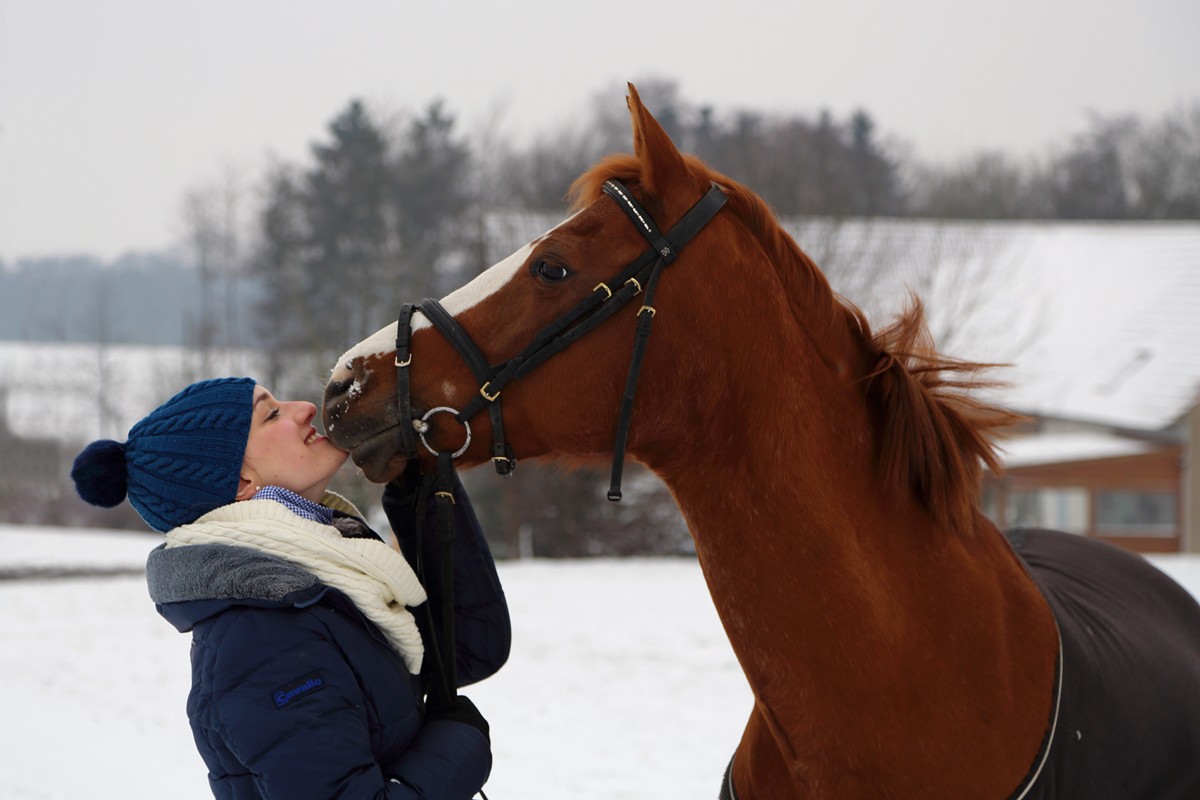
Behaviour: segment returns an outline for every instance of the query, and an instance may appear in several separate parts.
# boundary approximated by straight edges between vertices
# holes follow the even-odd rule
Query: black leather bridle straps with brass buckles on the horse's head
[[[454,413],[455,419],[467,428],[469,440],[468,420],[486,408],[492,421],[492,463],[496,465],[497,473],[508,477],[516,467],[517,459],[504,439],[504,420],[500,413],[502,390],[509,381],[527,374],[552,355],[577,342],[584,333],[595,329],[620,311],[636,295],[644,291],[642,307],[637,311],[634,354],[630,359],[625,393],[622,398],[617,422],[617,441],[613,445],[608,499],[620,500],[620,475],[625,459],[625,443],[629,438],[629,422],[632,415],[634,395],[637,391],[637,378],[642,368],[642,357],[656,313],[653,302],[659,276],[662,273],[662,267],[676,260],[684,245],[690,242],[720,211],[721,206],[725,205],[726,197],[720,187],[713,184],[704,197],[689,209],[676,227],[664,236],[658,225],[654,224],[649,212],[634,199],[625,186],[610,180],[605,181],[602,188],[604,193],[616,200],[620,210],[632,221],[637,231],[650,243],[650,248],[613,278],[606,283],[596,284],[592,294],[582,302],[539,331],[528,347],[508,361],[490,365],[467,331],[437,300],[426,297],[418,303],[404,303],[401,307],[396,326],[396,407],[406,457],[412,458],[416,455],[408,375],[408,367],[413,361],[410,339],[415,312],[420,311],[425,314],[433,327],[458,351],[458,355],[475,375],[475,380],[479,381],[479,392],[462,410],[455,413],[454,409],[444,407],[437,410]],[[612,287],[618,288],[613,289]],[[420,427],[420,421],[418,421],[416,427]],[[424,428],[421,431],[424,441]],[[428,447],[427,444],[426,447]]]

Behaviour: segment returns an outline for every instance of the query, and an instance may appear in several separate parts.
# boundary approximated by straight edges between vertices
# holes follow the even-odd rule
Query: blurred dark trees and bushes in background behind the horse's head
[[[935,164],[866,110],[724,110],[684,98],[671,80],[640,91],[680,149],[782,217],[1200,219],[1200,103],[1154,120],[1091,116],[1039,157],[979,152]],[[260,380],[319,402],[332,359],[401,302],[440,296],[524,241],[498,242],[498,216],[559,218],[570,182],[629,146],[611,94],[521,144],[461,130],[443,101],[397,112],[352,100],[305,161],[276,161],[251,181],[226,173],[186,193],[181,245],[196,284],[185,339],[200,354],[253,343],[266,357]],[[665,487],[648,476],[631,477],[638,503],[611,506],[602,476],[586,470],[522,464],[510,482],[482,473],[468,480],[502,555],[689,547]],[[373,505],[378,492],[362,483],[349,476],[341,488]]]

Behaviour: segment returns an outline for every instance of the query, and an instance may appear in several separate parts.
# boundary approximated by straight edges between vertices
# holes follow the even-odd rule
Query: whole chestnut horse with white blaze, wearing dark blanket
[[[752,690],[724,798],[1200,798],[1195,600],[1094,540],[1001,533],[988,365],[937,353],[916,299],[872,330],[628,104],[632,155],[571,216],[338,360],[331,439],[378,482],[614,457],[617,499],[625,453],[661,477]]]

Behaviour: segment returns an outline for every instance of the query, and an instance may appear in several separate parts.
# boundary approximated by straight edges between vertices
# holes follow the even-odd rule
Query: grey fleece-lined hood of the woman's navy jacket
[[[310,606],[328,591],[317,576],[281,558],[233,545],[160,545],[146,560],[158,613],[180,632],[230,606]]]

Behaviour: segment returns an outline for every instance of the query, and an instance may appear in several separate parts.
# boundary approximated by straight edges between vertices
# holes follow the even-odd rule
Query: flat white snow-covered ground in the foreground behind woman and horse
[[[17,566],[138,569],[156,536],[0,527]],[[1200,596],[1200,558],[1153,561]],[[512,656],[472,687],[492,800],[716,796],[750,692],[690,559],[502,563]],[[210,798],[187,648],[142,577],[0,581],[0,798]]]

